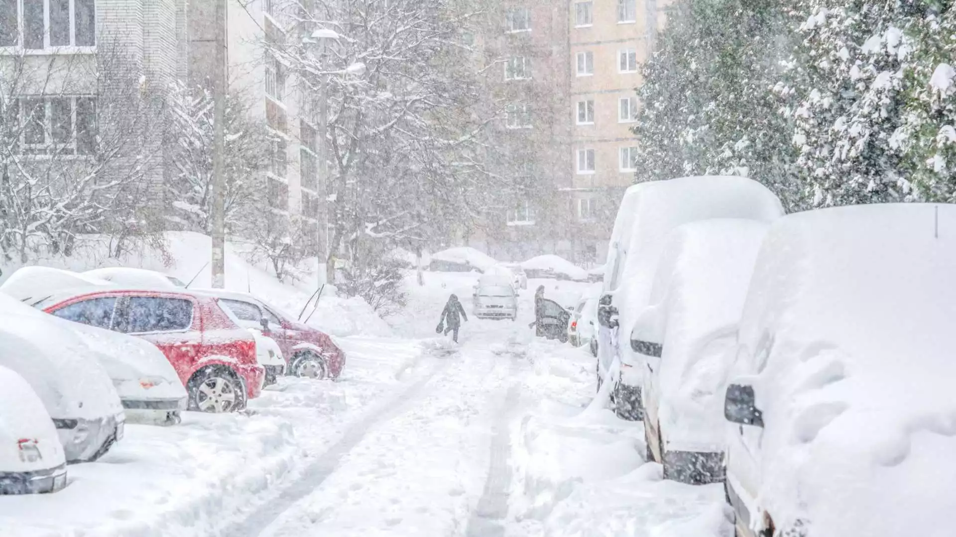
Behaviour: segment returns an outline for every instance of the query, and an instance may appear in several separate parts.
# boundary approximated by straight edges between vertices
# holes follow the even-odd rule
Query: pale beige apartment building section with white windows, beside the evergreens
[[[566,191],[578,221],[593,224],[578,228],[581,241],[603,258],[621,192],[634,181],[635,89],[664,16],[657,0],[572,0],[569,8],[573,167]]]

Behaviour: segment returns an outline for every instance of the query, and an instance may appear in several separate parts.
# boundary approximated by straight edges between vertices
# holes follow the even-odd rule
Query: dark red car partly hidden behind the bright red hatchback
[[[345,353],[339,349],[327,333],[300,323],[278,308],[245,292],[227,290],[197,290],[215,296],[219,305],[228,308],[248,328],[262,328],[268,321],[266,335],[272,337],[293,376],[314,378],[337,378],[345,367]]]

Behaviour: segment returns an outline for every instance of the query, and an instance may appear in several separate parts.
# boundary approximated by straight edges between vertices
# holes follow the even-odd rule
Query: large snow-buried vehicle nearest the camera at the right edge
[[[771,226],[730,351],[738,535],[952,535],[953,274],[954,205]]]

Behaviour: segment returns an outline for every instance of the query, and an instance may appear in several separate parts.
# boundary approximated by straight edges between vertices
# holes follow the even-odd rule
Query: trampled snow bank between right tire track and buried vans
[[[581,349],[532,342],[533,376],[522,393],[544,399],[511,425],[508,535],[724,537],[719,484],[663,481],[645,463],[643,425],[586,408],[594,358]]]

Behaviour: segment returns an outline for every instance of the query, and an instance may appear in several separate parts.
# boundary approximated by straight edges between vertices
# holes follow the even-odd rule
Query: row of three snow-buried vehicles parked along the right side
[[[665,478],[724,482],[737,536],[947,534],[956,206],[784,216],[684,178],[631,187],[612,237],[597,380]]]

